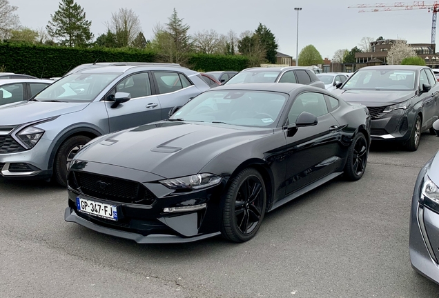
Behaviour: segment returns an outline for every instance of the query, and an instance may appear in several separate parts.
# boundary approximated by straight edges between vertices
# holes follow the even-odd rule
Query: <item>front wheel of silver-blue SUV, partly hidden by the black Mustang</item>
[[[57,155],[55,156],[53,173],[59,185],[67,185],[67,173],[68,168],[70,168],[70,161],[72,161],[77,152],[89,141],[91,141],[89,137],[79,135],[67,139],[62,143],[61,147],[59,147]]]

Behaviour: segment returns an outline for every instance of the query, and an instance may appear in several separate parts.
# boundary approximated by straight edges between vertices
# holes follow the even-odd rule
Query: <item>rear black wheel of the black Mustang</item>
[[[362,132],[358,132],[349,147],[348,159],[344,168],[348,180],[357,181],[364,175],[368,154],[366,137]]]

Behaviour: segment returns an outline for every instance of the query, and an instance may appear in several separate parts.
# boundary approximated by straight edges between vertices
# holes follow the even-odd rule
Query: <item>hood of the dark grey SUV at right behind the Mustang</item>
[[[345,101],[363,103],[366,106],[389,106],[392,103],[407,101],[415,96],[413,90],[385,91],[385,90],[333,90]]]

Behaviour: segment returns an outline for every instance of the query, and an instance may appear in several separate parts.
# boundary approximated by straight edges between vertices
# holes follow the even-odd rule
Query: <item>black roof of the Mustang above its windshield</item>
[[[236,83],[231,85],[223,85],[212,88],[211,90],[255,90],[255,91],[271,91],[289,93],[296,89],[315,88],[316,90],[323,90],[308,85],[298,83]]]

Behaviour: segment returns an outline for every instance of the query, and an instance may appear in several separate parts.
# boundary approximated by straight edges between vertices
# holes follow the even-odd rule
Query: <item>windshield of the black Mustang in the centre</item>
[[[273,127],[288,97],[254,90],[208,91],[186,103],[169,120]]]

